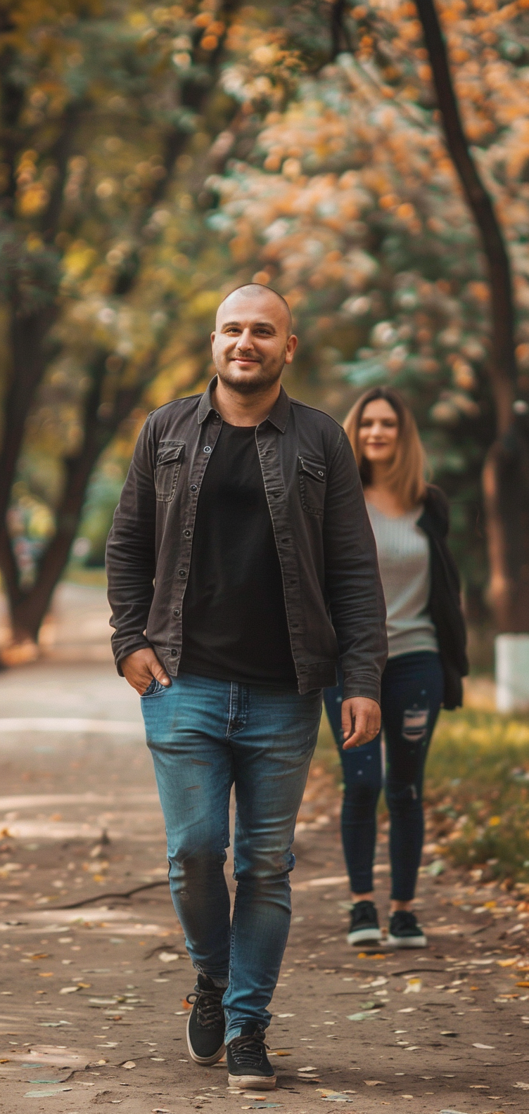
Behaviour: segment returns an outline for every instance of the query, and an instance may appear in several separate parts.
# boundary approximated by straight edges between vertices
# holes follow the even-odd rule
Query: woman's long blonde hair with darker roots
[[[362,485],[366,487],[371,482],[371,465],[362,455],[359,430],[365,407],[369,402],[375,402],[378,399],[389,402],[399,421],[395,459],[389,471],[388,482],[399,496],[403,507],[411,510],[424,499],[427,491],[425,457],[415,419],[401,395],[391,387],[372,387],[370,391],[365,391],[357,399],[352,410],[349,411],[343,428],[351,441]]]

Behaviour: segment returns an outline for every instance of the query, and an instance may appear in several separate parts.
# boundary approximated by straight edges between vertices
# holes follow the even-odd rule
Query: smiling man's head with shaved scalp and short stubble
[[[296,344],[286,309],[267,291],[251,296],[234,291],[218,307],[213,359],[222,382],[241,394],[277,382]]]

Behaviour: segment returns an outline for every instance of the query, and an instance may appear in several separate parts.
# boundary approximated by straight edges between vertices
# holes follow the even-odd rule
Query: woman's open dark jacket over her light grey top
[[[444,673],[444,707],[459,707],[463,702],[461,678],[469,672],[467,629],[461,610],[460,580],[455,561],[447,545],[449,506],[445,495],[428,485],[424,510],[418,526],[430,543],[430,599],[428,610],[439,643]]]

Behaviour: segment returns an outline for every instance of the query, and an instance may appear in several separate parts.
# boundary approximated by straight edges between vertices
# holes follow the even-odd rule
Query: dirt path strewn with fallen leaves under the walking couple
[[[0,1110],[528,1110],[521,903],[427,867],[428,949],[353,951],[337,801],[317,761],[268,1030],[277,1089],[259,1102],[227,1089],[224,1064],[197,1068],[183,1004],[193,971],[167,886],[104,897],[166,873],[135,694],[105,664],[47,664],[1,675],[0,709]],[[383,840],[376,877],[385,921]]]

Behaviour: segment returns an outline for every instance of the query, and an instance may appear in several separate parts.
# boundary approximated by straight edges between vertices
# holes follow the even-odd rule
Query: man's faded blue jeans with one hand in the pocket
[[[291,920],[294,825],[322,711],[265,685],[190,674],[141,696],[167,832],[173,902],[194,967],[226,986],[226,1042],[266,1027]],[[235,784],[232,924],[224,876]]]

